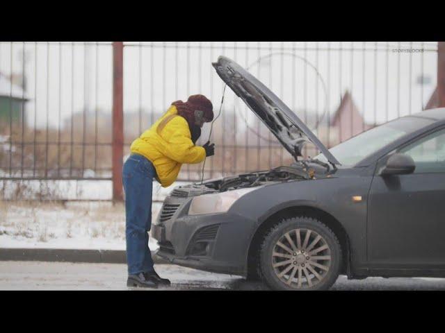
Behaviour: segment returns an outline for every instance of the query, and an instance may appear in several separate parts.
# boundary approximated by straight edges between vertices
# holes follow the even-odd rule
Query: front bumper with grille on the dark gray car
[[[245,276],[253,221],[230,211],[189,216],[191,200],[165,198],[152,225],[152,237],[159,244],[156,254],[180,266]]]

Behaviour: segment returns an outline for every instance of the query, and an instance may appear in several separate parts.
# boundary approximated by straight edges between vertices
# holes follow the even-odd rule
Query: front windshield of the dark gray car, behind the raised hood
[[[353,166],[403,135],[413,133],[433,122],[430,119],[419,117],[399,118],[351,137],[330,148],[329,151],[341,164]],[[327,162],[323,154],[316,155],[314,159]]]

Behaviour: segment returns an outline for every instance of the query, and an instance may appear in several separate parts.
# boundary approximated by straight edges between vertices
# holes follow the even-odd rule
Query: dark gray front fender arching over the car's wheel
[[[249,234],[240,253],[247,262],[254,235],[270,216],[290,207],[312,207],[330,214],[336,219],[347,236],[353,239],[351,248],[357,264],[366,259],[366,194],[371,178],[330,178],[302,180],[268,185],[242,196],[231,208],[248,221]],[[353,195],[363,195],[364,200],[354,203]],[[287,200],[286,200],[287,198]]]

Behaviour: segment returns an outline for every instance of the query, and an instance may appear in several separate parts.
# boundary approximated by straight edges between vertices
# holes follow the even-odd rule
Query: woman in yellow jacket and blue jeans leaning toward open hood
[[[156,288],[158,284],[170,284],[154,271],[148,248],[153,178],[162,187],[168,187],[175,182],[182,164],[200,163],[213,155],[213,144],[195,146],[202,125],[212,120],[211,101],[203,95],[192,95],[186,103],[172,103],[161,119],[131,144],[131,155],[122,171],[127,220],[127,286]]]

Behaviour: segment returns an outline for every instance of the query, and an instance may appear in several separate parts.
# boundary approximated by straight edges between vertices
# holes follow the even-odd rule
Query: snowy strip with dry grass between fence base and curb
[[[153,219],[161,203],[153,205]],[[0,247],[125,249],[124,205],[1,202]],[[149,247],[157,248],[150,238]]]

